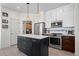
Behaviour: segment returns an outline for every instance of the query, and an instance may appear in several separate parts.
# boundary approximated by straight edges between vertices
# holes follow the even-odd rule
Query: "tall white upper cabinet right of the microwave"
[[[63,27],[74,26],[73,4],[63,6]]]

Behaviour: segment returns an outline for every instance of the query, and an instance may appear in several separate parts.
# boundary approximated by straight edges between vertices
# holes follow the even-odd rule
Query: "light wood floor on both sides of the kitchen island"
[[[0,56],[27,56],[17,49],[17,46],[0,49]],[[49,47],[49,56],[74,56],[73,53]]]

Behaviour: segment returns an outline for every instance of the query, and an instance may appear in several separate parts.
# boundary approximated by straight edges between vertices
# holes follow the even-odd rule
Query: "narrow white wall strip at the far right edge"
[[[79,4],[74,4],[75,55],[79,56]]]

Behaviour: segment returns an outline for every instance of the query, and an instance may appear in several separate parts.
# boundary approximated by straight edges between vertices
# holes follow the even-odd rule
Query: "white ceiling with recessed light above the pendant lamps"
[[[68,3],[39,3],[40,11],[48,11],[51,9],[55,9],[57,7],[66,5]],[[1,3],[2,7],[6,7],[18,12],[27,12],[27,4],[26,3]],[[36,13],[37,12],[37,3],[30,3],[29,4],[29,12]]]

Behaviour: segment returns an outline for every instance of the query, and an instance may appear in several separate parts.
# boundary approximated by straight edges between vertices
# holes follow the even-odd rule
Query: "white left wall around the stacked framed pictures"
[[[8,17],[1,17],[1,19],[7,19],[8,20],[8,29],[3,29],[1,28],[1,48],[5,48],[5,47],[9,47],[10,46],[10,21],[11,19],[17,19],[18,21],[20,21],[20,13],[13,11],[11,9],[8,8],[1,8],[1,12],[7,12],[8,13]],[[1,24],[2,25],[2,24]]]

